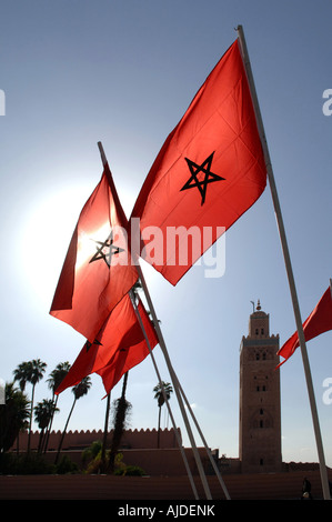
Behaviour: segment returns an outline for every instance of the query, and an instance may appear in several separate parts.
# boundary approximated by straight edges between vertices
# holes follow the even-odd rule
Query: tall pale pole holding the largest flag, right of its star
[[[301,353],[302,353],[302,361],[303,361],[304,373],[305,373],[305,379],[306,379],[308,394],[309,394],[309,400],[310,400],[310,405],[311,405],[313,428],[314,428],[316,446],[318,446],[323,495],[324,495],[324,500],[330,500],[331,496],[330,496],[330,490],[329,490],[329,480],[328,480],[328,472],[326,472],[326,465],[325,465],[325,458],[324,458],[324,451],[323,451],[323,444],[322,444],[308,351],[306,351],[306,345],[305,345],[305,337],[304,337],[302,319],[301,319],[301,313],[300,313],[299,299],[298,299],[298,293],[296,293],[296,288],[295,288],[295,281],[294,281],[293,269],[291,264],[291,258],[290,258],[290,252],[289,252],[289,247],[288,247],[288,241],[286,241],[286,235],[285,235],[283,218],[281,213],[279,195],[276,191],[272,163],[270,159],[270,152],[268,148],[268,141],[266,141],[266,137],[264,132],[263,120],[262,120],[262,116],[260,111],[260,106],[258,101],[258,96],[255,91],[253,74],[251,70],[251,64],[250,64],[250,59],[249,59],[249,53],[247,49],[247,43],[245,43],[245,38],[244,38],[242,26],[238,26],[238,36],[239,36],[244,67],[247,70],[248,81],[249,81],[249,86],[251,90],[252,101],[253,101],[253,106],[255,110],[255,117],[258,121],[262,148],[264,152],[265,165],[268,170],[268,179],[269,179],[270,190],[272,194],[272,201],[274,205],[274,212],[275,212],[276,223],[279,228],[280,241],[282,245],[284,263],[285,263],[285,269],[286,269],[286,274],[288,274],[288,280],[289,280],[289,287],[290,287],[290,292],[291,292],[291,298],[292,298],[292,304],[293,304],[294,317],[295,317],[296,329],[298,329],[299,341],[300,341]]]

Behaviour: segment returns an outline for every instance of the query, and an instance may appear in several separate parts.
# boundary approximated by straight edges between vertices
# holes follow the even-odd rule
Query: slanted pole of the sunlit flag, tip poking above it
[[[98,147],[99,147],[99,150],[100,150],[100,155],[101,155],[102,164],[105,165],[105,163],[107,163],[107,157],[105,157],[105,153],[104,153],[102,143],[101,143],[100,141],[98,142]],[[211,496],[211,492],[210,492],[209,484],[208,484],[208,481],[207,481],[207,476],[205,476],[205,474],[204,474],[204,470],[203,470],[203,466],[202,466],[202,462],[201,462],[201,460],[200,460],[200,456],[199,456],[199,453],[198,453],[198,449],[197,449],[197,446],[195,446],[194,439],[193,439],[193,435],[192,435],[192,432],[191,432],[191,428],[190,428],[189,422],[188,422],[188,416],[187,416],[187,413],[185,413],[185,410],[184,410],[184,405],[183,405],[183,402],[182,402],[182,398],[181,398],[181,394],[180,394],[180,392],[179,392],[179,390],[178,390],[177,381],[175,381],[175,379],[174,379],[174,377],[173,377],[173,369],[172,369],[172,365],[171,365],[171,362],[170,362],[170,358],[169,358],[169,354],[168,354],[168,351],[167,351],[167,348],[165,348],[165,343],[164,343],[164,340],[163,340],[163,335],[162,335],[162,333],[161,333],[161,329],[160,329],[160,327],[159,327],[159,322],[158,322],[158,318],[157,318],[157,314],[155,314],[155,311],[154,311],[154,307],[153,307],[153,303],[152,303],[152,300],[151,300],[151,297],[150,297],[150,293],[149,293],[147,283],[145,283],[145,279],[144,279],[144,275],[143,275],[143,272],[142,272],[142,270],[141,270],[141,267],[140,267],[139,262],[137,263],[137,270],[138,270],[139,278],[140,278],[140,280],[141,280],[141,283],[142,283],[142,287],[143,287],[143,290],[144,290],[144,294],[145,294],[147,301],[148,301],[148,303],[149,303],[150,312],[151,312],[152,318],[153,318],[155,331],[157,331],[158,339],[159,339],[159,344],[160,344],[160,348],[161,348],[161,350],[162,350],[163,357],[164,357],[164,359],[165,359],[165,362],[167,362],[167,365],[168,365],[168,369],[169,369],[169,372],[170,372],[170,375],[171,375],[171,379],[172,379],[172,382],[173,382],[173,387],[174,387],[174,390],[175,390],[178,403],[179,403],[179,406],[180,406],[180,410],[181,410],[181,413],[182,413],[182,418],[183,418],[183,421],[184,421],[184,424],[185,424],[185,428],[187,428],[187,431],[188,431],[188,435],[189,435],[190,442],[191,442],[191,446],[192,446],[192,450],[193,450],[193,454],[194,454],[194,459],[195,459],[197,466],[198,466],[198,470],[199,470],[199,474],[200,474],[200,476],[201,476],[201,481],[202,481],[202,484],[203,484],[203,489],[204,489],[207,499],[208,499],[208,500],[211,500],[212,496]]]

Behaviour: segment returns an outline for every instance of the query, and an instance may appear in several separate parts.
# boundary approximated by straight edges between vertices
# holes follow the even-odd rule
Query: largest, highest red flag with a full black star
[[[135,250],[177,284],[258,200],[265,184],[262,145],[235,41],[147,175],[131,214],[141,232]]]

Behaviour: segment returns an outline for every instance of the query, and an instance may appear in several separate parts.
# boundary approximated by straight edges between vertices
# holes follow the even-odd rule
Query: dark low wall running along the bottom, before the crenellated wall
[[[320,472],[306,473],[314,500],[322,498]],[[332,474],[329,471],[329,479]],[[212,499],[224,494],[217,476],[208,476]],[[231,500],[299,500],[303,473],[237,474],[224,476]],[[199,498],[204,500],[201,481],[195,478]],[[188,475],[182,476],[112,476],[112,475],[0,475],[0,500],[193,500]],[[121,504],[120,504],[121,505]],[[145,504],[143,504],[145,505]],[[153,503],[151,504],[153,506]],[[218,502],[217,502],[218,505]],[[315,509],[316,505],[314,504]],[[300,504],[299,504],[300,506]],[[258,506],[259,508],[259,506]],[[265,505],[264,505],[265,508]],[[221,506],[221,515],[225,513]],[[242,508],[241,508],[242,509]],[[245,509],[245,508],[244,508]],[[255,510],[255,505],[253,510]],[[274,509],[274,505],[273,505]],[[294,505],[295,509],[295,505]],[[316,511],[319,513],[319,511]],[[218,512],[215,512],[218,515]],[[319,514],[318,514],[319,515]],[[217,518],[217,516],[215,516]],[[221,519],[221,516],[220,516]]]

